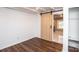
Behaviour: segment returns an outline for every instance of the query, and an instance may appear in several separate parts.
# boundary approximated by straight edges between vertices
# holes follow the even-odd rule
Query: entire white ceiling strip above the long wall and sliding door
[[[45,13],[49,11],[63,10],[63,7],[7,7],[7,8],[30,13]]]

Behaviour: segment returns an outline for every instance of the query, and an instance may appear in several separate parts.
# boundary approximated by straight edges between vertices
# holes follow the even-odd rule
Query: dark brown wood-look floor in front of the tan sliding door
[[[1,52],[59,52],[62,44],[46,41],[40,38],[32,38],[28,41],[0,50]]]

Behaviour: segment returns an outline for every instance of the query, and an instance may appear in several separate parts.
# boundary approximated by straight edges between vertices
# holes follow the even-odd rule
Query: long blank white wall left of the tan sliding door
[[[0,49],[40,37],[40,15],[0,8]]]

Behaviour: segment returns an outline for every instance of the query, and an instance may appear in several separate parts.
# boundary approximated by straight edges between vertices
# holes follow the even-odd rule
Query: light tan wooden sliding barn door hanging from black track
[[[52,41],[52,13],[41,14],[41,38]]]

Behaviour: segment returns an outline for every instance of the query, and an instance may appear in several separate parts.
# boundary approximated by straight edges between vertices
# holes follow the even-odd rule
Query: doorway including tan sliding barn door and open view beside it
[[[63,42],[63,14],[41,14],[41,38],[57,43]]]

